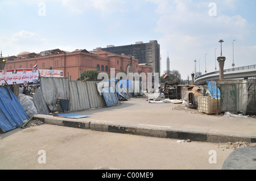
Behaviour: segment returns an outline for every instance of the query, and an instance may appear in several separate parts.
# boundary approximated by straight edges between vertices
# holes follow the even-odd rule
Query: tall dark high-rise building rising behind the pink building
[[[98,49],[115,54],[132,55],[139,60],[139,64],[151,66],[152,73],[160,73],[160,45],[157,40],[151,40],[149,43],[138,41],[135,44],[118,47],[108,45],[106,48],[98,47],[93,52]]]

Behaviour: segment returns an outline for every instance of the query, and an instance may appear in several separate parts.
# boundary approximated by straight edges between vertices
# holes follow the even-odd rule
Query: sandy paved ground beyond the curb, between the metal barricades
[[[256,133],[255,118],[224,117],[194,113],[195,111],[176,111],[172,108],[180,104],[148,103],[146,99],[147,97],[132,98],[122,102],[119,106],[76,111],[76,113],[89,115],[91,116],[90,119],[93,120],[118,123]],[[84,120],[88,120],[88,118]]]

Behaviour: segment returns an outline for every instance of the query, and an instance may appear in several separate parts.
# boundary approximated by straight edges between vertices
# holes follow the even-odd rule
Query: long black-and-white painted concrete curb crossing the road
[[[93,131],[134,134],[159,138],[172,138],[177,140],[191,140],[202,142],[256,142],[256,133],[217,131],[196,128],[176,128],[158,125],[115,123],[86,118],[70,119],[50,115],[34,115],[34,119],[43,121],[45,124],[59,125],[64,127],[90,129]]]

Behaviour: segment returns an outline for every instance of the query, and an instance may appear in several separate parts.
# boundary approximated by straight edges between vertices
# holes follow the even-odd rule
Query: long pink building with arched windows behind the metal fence
[[[64,77],[71,80],[79,78],[85,70],[98,70],[110,75],[110,69],[115,69],[115,74],[126,72],[130,64],[130,57],[125,54],[114,54],[103,50],[90,53],[86,49],[66,52],[60,49],[46,50],[40,53],[21,52],[17,56],[6,57],[5,70],[33,68],[37,62],[38,69],[63,70]],[[151,66],[140,65],[138,60],[132,58],[132,65],[137,73],[151,73]]]

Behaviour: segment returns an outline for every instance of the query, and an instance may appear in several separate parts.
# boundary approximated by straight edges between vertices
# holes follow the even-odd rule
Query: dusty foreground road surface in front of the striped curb
[[[44,161],[39,150],[46,163],[38,162]],[[205,142],[44,124],[0,134],[0,169],[217,170],[232,151]]]

